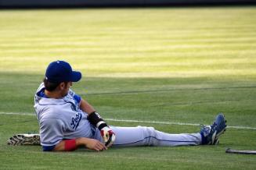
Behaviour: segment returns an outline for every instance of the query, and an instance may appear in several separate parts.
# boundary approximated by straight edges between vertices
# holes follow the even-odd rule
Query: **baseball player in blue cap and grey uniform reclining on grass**
[[[79,80],[81,73],[73,71],[67,62],[52,62],[46,69],[45,79],[34,96],[43,151],[217,144],[226,129],[223,114],[218,114],[211,126],[190,134],[169,134],[143,126],[108,126],[91,104],[70,90]]]

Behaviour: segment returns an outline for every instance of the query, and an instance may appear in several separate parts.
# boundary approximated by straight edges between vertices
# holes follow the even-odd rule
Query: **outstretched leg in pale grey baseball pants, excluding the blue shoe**
[[[116,134],[114,147],[132,146],[181,146],[198,145],[201,143],[200,133],[168,134],[155,130],[153,127],[110,127]],[[98,130],[96,139],[101,140]]]

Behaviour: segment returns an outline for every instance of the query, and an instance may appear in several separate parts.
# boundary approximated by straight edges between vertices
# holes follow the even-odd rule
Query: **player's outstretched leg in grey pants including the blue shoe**
[[[153,127],[115,127],[116,133],[114,147],[129,146],[182,146],[199,144],[216,144],[218,137],[224,133],[225,117],[217,115],[211,126],[204,126],[200,133],[169,134],[153,129]],[[96,139],[101,140],[99,130],[96,130]]]

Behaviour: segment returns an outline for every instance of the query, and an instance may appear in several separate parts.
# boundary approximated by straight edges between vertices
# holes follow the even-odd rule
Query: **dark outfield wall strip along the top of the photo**
[[[0,7],[86,7],[256,4],[256,0],[0,0]]]

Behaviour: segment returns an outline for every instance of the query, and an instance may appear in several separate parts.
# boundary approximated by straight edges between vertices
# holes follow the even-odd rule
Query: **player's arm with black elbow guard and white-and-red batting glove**
[[[116,139],[115,133],[107,126],[106,122],[100,117],[99,113],[96,112],[92,105],[88,104],[84,99],[80,101],[80,108],[82,111],[88,113],[88,121],[100,130],[106,147],[110,147]]]

